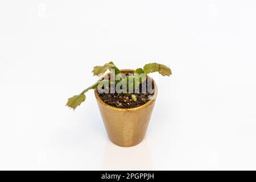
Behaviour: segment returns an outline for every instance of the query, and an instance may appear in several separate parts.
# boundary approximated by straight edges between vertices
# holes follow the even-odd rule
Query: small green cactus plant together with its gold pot
[[[108,70],[110,73],[104,75]],[[148,73],[159,72],[163,76],[170,76],[171,69],[158,63],[146,64],[135,70],[118,69],[110,62],[94,67],[92,72],[100,80],[69,98],[67,106],[75,110],[85,101],[85,93],[94,89],[110,140],[122,147],[140,143],[146,134],[158,94],[156,83]]]

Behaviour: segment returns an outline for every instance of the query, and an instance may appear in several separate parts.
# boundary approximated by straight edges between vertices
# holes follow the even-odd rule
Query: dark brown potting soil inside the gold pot
[[[152,86],[152,89],[154,89],[154,84]],[[98,93],[101,100],[104,101],[106,104],[118,108],[134,108],[141,106],[143,104],[146,104],[150,97],[154,95],[154,93],[150,94],[146,91],[146,93],[141,93],[142,90],[142,84],[139,86],[139,93],[133,93],[137,97],[137,101],[133,101],[131,98],[131,94],[118,94],[118,93]]]

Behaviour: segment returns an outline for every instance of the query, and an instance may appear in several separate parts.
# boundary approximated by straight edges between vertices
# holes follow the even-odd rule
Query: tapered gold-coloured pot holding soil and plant
[[[121,72],[133,73],[134,70],[122,69]],[[149,76],[147,78],[152,80]],[[158,94],[158,88],[154,80],[152,80],[152,83],[155,88],[152,99],[144,105],[130,109],[117,108],[106,104],[98,96],[97,89],[94,90],[106,131],[110,140],[118,146],[131,147],[143,140]]]

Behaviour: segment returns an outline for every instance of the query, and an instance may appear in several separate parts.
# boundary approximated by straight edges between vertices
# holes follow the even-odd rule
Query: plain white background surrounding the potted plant
[[[0,169],[256,169],[256,2],[1,1]],[[158,61],[146,138],[106,134],[92,67]]]

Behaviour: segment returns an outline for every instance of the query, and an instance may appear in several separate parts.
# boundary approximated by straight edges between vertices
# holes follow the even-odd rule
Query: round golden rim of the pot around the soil
[[[121,72],[134,72],[135,70],[134,69],[120,69],[120,71]],[[107,73],[104,76],[106,76],[106,75],[110,75],[110,73]],[[103,77],[101,77],[101,78],[103,78]],[[154,83],[155,92],[154,92],[154,95],[152,96],[152,99],[149,100],[146,104],[143,104],[141,106],[133,107],[133,108],[118,108],[118,107],[110,106],[110,105],[106,104],[104,101],[102,101],[100,96],[98,95],[97,89],[94,89],[94,95],[95,95],[96,99],[100,102],[100,104],[104,105],[105,107],[108,107],[109,109],[118,110],[118,111],[132,111],[132,110],[143,109],[143,108],[153,104],[153,102],[154,102],[154,100],[156,100],[156,96],[158,94],[158,86],[156,85],[155,81],[150,76],[147,75],[147,77],[150,78],[152,80],[152,82]],[[101,80],[101,78],[99,80]]]

